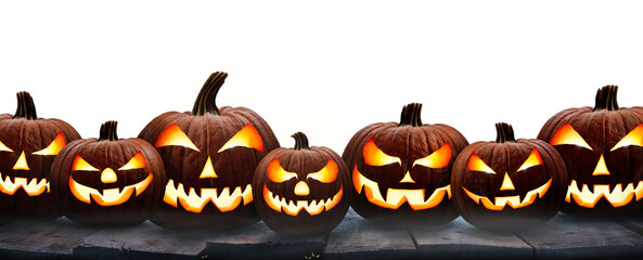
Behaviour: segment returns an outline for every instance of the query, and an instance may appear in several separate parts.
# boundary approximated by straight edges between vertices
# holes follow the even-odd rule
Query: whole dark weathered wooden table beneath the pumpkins
[[[462,218],[434,229],[383,227],[355,211],[327,235],[288,238],[256,223],[234,232],[178,232],[151,222],[91,227],[66,218],[0,226],[1,259],[643,259],[643,220],[558,213],[530,231],[494,233]]]

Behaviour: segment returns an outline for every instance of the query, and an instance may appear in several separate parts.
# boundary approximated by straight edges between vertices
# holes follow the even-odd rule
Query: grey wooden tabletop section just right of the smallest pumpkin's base
[[[349,209],[329,236],[324,259],[415,259],[417,252],[406,229],[372,223]]]

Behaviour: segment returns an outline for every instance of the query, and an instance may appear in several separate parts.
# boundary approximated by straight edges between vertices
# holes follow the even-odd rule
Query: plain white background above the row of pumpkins
[[[342,154],[410,102],[470,142],[498,121],[535,138],[605,84],[643,105],[642,27],[635,1],[0,1],[0,113],[27,90],[83,138],[106,120],[131,138],[222,70],[217,104],[253,108],[282,146],[304,131]]]

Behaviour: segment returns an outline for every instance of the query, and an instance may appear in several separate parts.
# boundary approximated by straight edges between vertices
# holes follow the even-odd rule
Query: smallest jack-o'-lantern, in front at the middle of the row
[[[348,168],[327,147],[308,146],[301,132],[294,148],[270,152],[255,172],[257,211],[274,232],[285,235],[325,234],[348,210]]]

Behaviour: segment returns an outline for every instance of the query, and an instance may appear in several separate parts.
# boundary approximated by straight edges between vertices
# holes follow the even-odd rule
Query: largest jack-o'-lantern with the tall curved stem
[[[279,141],[255,112],[216,106],[227,77],[214,73],[208,78],[192,113],[165,113],[139,134],[156,147],[168,174],[163,206],[152,217],[160,226],[217,229],[259,220],[253,176]]]

